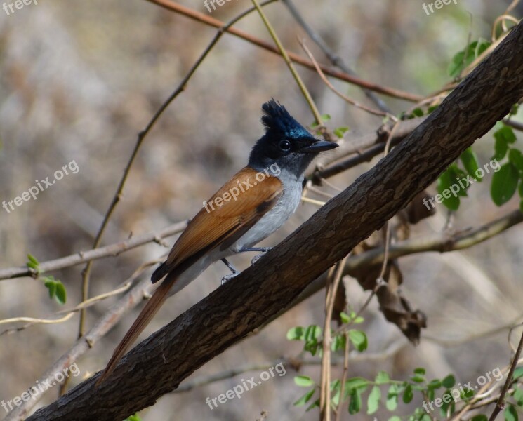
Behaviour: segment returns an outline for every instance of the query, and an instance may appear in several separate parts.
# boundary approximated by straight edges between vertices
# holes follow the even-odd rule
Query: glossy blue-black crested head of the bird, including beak
[[[265,135],[251,151],[249,166],[252,168],[261,170],[277,163],[300,177],[318,152],[338,147],[337,143],[315,138],[278,102],[265,102],[262,109]]]

